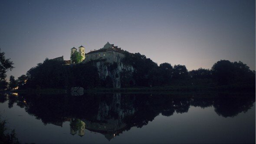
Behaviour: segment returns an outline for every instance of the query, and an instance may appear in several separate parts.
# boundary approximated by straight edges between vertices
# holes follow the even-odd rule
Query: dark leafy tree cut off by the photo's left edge
[[[7,88],[7,82],[5,80],[6,78],[6,72],[8,70],[12,70],[13,67],[13,62],[10,61],[10,59],[6,59],[4,56],[4,52],[1,52],[0,49],[0,90],[6,89]]]

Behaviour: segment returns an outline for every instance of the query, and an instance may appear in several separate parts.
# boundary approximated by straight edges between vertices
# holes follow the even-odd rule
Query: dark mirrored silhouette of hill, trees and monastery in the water
[[[146,94],[104,95],[19,95],[9,96],[9,103],[25,107],[44,124],[62,126],[70,121],[70,133],[84,135],[85,129],[98,132],[108,140],[131,127],[141,128],[162,114],[187,112],[190,106],[207,108],[213,106],[223,117],[234,117],[253,106],[255,95],[180,96]],[[2,101],[5,101],[6,96]],[[24,103],[26,99],[26,103]]]

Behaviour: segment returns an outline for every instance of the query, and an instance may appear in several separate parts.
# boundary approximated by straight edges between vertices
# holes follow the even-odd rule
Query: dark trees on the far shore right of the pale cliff
[[[241,61],[220,60],[214,63],[211,69],[188,71],[185,65],[172,66],[165,62],[158,66],[140,53],[125,52],[122,62],[136,69],[133,75],[122,73],[122,85],[125,87],[255,83],[255,71],[250,70],[249,66]]]

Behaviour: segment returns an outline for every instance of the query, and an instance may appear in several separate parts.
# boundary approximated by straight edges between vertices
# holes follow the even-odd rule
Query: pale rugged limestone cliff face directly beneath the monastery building
[[[95,62],[94,66],[98,69],[100,79],[105,80],[107,76],[112,79],[113,88],[121,88],[121,73],[133,73],[135,69],[131,65],[120,63]]]

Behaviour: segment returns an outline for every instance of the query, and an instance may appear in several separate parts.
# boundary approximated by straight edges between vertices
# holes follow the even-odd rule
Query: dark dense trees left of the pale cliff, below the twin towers
[[[63,65],[62,62],[46,59],[26,75],[26,85],[22,88],[94,88],[100,83],[97,69],[91,63]]]

